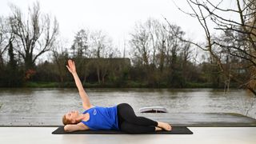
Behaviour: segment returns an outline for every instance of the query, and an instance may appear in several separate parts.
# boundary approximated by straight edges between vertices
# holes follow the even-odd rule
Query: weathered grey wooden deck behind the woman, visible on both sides
[[[256,119],[234,113],[136,113],[138,116],[168,122],[175,126],[256,126]],[[59,114],[0,113],[0,126],[61,126]]]

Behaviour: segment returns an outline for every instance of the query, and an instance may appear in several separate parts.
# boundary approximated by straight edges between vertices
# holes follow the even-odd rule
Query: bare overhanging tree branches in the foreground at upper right
[[[221,72],[227,77],[231,78],[235,82],[241,84],[241,86],[246,87],[252,93],[256,95],[255,83],[256,74],[256,44],[255,44],[255,1],[254,0],[235,0],[236,8],[222,8],[222,1],[214,4],[209,0],[199,1],[199,0],[187,0],[192,12],[187,13],[191,17],[197,18],[199,24],[202,26],[206,34],[206,46],[200,46],[196,42],[190,42],[195,46],[200,47],[202,50],[206,50],[218,63],[218,67]],[[233,1],[234,2],[234,1]],[[181,9],[180,9],[181,10]],[[239,19],[225,18],[219,13],[229,13],[236,14]],[[222,33],[226,34],[230,31],[229,35],[226,37],[232,39],[232,42],[218,41],[214,38],[214,35],[210,31],[209,22],[214,22],[215,30],[220,30]],[[229,55],[238,58],[237,66],[242,67],[244,70],[248,70],[249,78],[240,78],[237,71],[232,71],[226,69],[223,65],[222,52],[226,51]]]

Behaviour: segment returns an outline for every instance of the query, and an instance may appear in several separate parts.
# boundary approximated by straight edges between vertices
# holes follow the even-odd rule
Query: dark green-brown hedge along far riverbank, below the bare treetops
[[[42,62],[33,69],[23,66],[4,66],[0,85],[3,87],[74,87],[74,79],[66,70],[70,58]],[[73,58],[77,72],[86,87],[156,87],[156,88],[223,88],[222,75],[210,63],[195,66],[178,57],[174,69],[160,70],[158,67],[131,66],[129,58]],[[235,83],[233,83],[235,85]]]

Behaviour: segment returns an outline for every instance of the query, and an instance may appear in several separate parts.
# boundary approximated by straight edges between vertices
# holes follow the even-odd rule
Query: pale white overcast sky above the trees
[[[233,7],[233,0],[223,6]],[[20,7],[23,13],[35,0],[0,0],[0,14],[10,14],[9,3]],[[127,40],[136,22],[145,22],[147,18],[156,18],[165,22],[166,17],[172,24],[182,27],[187,37],[200,41],[204,38],[202,27],[195,18],[183,14],[174,2],[189,11],[186,0],[41,0],[38,1],[43,13],[55,16],[59,22],[60,34],[70,46],[74,34],[82,29],[103,30],[113,38],[120,51],[123,41]],[[211,2],[219,2],[213,0]],[[231,16],[231,15],[228,15]]]

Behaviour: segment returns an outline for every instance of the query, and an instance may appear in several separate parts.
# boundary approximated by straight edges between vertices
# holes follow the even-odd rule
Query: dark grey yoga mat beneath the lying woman
[[[65,132],[64,126],[59,126],[52,134],[127,134],[119,130],[82,130],[74,132]],[[171,131],[161,130],[143,134],[193,134],[186,126],[172,126]]]

